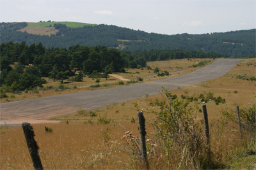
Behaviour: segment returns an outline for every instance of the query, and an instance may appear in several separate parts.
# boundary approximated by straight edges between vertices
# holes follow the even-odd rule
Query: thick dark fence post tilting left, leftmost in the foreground
[[[22,124],[22,128],[23,128],[25,138],[27,141],[29,154],[33,161],[33,166],[35,167],[35,169],[43,169],[42,162],[41,162],[40,156],[38,154],[38,146],[34,139],[35,134],[33,131],[33,127],[29,123],[24,122]]]

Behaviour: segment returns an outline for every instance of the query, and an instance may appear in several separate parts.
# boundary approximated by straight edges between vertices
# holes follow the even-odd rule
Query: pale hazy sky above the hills
[[[0,22],[83,22],[168,35],[256,28],[255,0],[0,0],[0,13]]]

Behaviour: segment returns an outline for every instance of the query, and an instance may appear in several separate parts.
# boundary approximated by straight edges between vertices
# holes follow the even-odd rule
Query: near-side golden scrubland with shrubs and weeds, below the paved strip
[[[184,65],[180,64],[180,67],[192,65],[189,64],[191,60],[181,61]],[[167,65],[160,66],[159,63],[148,63],[148,66],[157,65],[161,69],[166,68]],[[189,69],[192,68],[189,67]],[[184,73],[188,70],[185,69]],[[255,116],[255,81],[250,80],[252,76],[255,77],[255,59],[243,59],[234,69],[220,78],[171,90],[169,93],[176,94],[177,101],[182,104],[186,103],[186,99],[193,97],[192,101],[185,104],[186,106],[175,103],[173,100],[172,112],[180,114],[182,118],[177,119],[182,127],[179,129],[179,135],[175,128],[170,128],[172,120],[166,123],[157,118],[161,117],[159,113],[168,114],[168,107],[167,111],[164,112],[163,109],[160,112],[159,104],[161,103],[158,103],[164,101],[164,92],[155,96],[146,94],[140,99],[114,103],[92,111],[81,108],[74,115],[52,118],[52,120],[63,120],[60,123],[33,124],[43,166],[55,169],[142,169],[141,156],[137,148],[140,143],[136,136],[139,135],[137,113],[143,110],[146,119],[150,169],[254,169],[256,167],[255,134],[243,128],[243,138],[241,138],[237,124],[228,121],[227,115],[224,114],[231,114],[231,110],[235,110],[239,105],[241,109],[253,111],[254,108]],[[128,77],[124,76],[124,78]],[[214,100],[205,103],[210,122],[209,143],[205,139],[203,124],[201,124],[200,108],[203,104],[199,98],[201,94],[204,97],[211,94],[213,97],[220,96],[225,99],[224,103],[216,104]],[[168,103],[166,104],[168,106]],[[175,109],[175,106],[182,108],[180,109],[182,111],[179,112],[179,107]],[[186,124],[189,125],[186,126]],[[51,127],[53,131],[45,132],[45,127]],[[125,134],[127,131],[132,134]],[[22,127],[6,125],[1,127],[0,135],[1,159],[28,153]],[[29,162],[26,160],[28,157],[20,161]],[[72,157],[72,159],[70,161],[67,158],[61,159],[63,157]],[[13,164],[17,160],[10,159],[14,162]],[[7,162],[4,166],[15,169],[10,166],[11,163]],[[24,169],[28,167],[24,163],[20,166]]]

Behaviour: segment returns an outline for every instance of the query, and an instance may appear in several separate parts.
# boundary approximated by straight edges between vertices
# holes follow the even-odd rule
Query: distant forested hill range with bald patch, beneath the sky
[[[31,45],[41,42],[46,48],[52,46],[69,48],[77,44],[100,45],[131,52],[152,49],[202,50],[225,54],[228,57],[255,55],[256,29],[211,34],[165,35],[135,31],[115,25],[77,22],[20,22],[1,23],[0,26],[1,43],[26,41],[27,45]],[[42,31],[39,27],[48,28]]]

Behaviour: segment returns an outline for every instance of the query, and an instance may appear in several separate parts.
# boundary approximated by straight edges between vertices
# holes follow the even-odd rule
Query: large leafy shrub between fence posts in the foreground
[[[209,164],[209,145],[204,127],[200,121],[194,121],[197,106],[189,107],[188,101],[180,101],[166,89],[164,92],[164,99],[152,101],[152,108],[148,109],[157,115],[157,120],[151,124],[156,132],[151,138],[154,145],[150,150],[165,155],[164,161],[172,166],[167,169],[204,169]],[[135,106],[141,110],[138,104]]]

